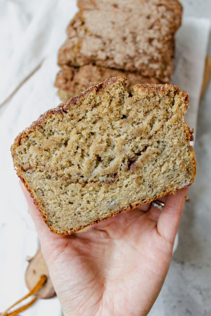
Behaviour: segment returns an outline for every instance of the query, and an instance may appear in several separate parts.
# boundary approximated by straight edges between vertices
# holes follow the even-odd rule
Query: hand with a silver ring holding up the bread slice
[[[59,236],[49,231],[22,185],[43,256],[65,316],[143,316],[155,302],[171,262],[188,188]]]

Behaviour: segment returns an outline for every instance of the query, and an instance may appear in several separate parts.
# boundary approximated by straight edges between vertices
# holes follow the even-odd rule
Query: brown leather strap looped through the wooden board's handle
[[[11,305],[5,312],[3,312],[1,314],[1,316],[16,316],[18,313],[21,313],[23,311],[25,311],[28,307],[30,307],[32,304],[34,304],[34,302],[37,300],[37,297],[33,298],[29,303],[17,308],[15,311],[8,313],[8,311],[16,306],[17,304],[21,303],[23,300],[27,299],[29,296],[34,295],[39,289],[41,289],[41,287],[43,286],[43,284],[46,282],[47,280],[47,276],[42,275],[40,277],[40,280],[37,282],[37,284],[34,286],[33,289],[31,289],[31,291],[29,291],[29,293],[25,296],[23,296],[20,300],[18,300],[16,303],[14,303],[13,305]]]

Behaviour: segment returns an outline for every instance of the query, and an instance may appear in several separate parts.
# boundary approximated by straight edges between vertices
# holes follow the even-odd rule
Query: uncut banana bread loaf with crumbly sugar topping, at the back
[[[181,23],[177,0],[79,1],[58,64],[96,64],[170,82],[174,34]]]

